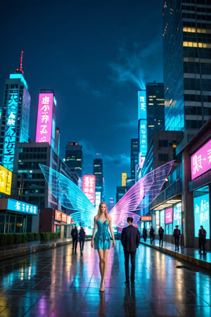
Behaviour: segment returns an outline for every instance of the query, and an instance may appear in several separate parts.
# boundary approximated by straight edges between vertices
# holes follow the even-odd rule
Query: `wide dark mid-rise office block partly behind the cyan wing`
[[[64,210],[59,201],[51,194],[49,185],[44,179],[39,163],[62,173],[77,185],[78,176],[50,147],[49,143],[18,143],[15,149],[13,175],[13,197],[35,204],[39,208]]]

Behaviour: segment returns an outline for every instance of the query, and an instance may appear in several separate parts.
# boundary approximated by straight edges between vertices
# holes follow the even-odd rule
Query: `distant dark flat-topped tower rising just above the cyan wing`
[[[65,163],[70,170],[75,170],[79,178],[83,176],[82,145],[77,142],[68,142],[65,148]]]

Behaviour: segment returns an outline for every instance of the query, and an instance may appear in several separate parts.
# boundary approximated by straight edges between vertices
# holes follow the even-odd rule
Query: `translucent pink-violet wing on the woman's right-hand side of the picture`
[[[134,218],[134,224],[139,221],[139,209],[151,204],[158,196],[173,164],[174,161],[170,161],[155,168],[155,170],[143,176],[141,180],[136,182],[134,186],[124,194],[109,213],[110,216],[112,216],[113,225],[121,228],[124,227],[127,225],[127,217],[129,216]]]

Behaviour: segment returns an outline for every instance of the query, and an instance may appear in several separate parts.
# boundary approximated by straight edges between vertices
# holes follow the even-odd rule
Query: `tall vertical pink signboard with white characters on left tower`
[[[40,93],[37,113],[36,142],[51,144],[53,93]]]

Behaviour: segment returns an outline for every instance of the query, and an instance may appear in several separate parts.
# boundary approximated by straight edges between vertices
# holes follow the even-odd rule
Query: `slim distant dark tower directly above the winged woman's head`
[[[104,184],[104,176],[103,176],[103,160],[102,159],[94,159],[93,164],[93,174],[95,175],[95,188],[96,195],[101,193],[101,201],[105,201],[105,184]]]

